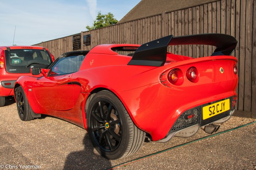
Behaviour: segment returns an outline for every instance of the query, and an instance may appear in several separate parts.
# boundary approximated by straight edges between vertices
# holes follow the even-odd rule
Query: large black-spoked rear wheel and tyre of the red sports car
[[[142,146],[145,132],[134,125],[122,102],[112,92],[98,92],[87,111],[89,137],[104,157],[124,158]]]

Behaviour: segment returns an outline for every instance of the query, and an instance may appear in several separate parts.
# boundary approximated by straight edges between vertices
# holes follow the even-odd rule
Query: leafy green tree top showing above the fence
[[[98,12],[98,15],[96,17],[96,20],[94,20],[93,26],[86,26],[86,29],[92,30],[97,28],[102,28],[106,26],[110,26],[113,24],[116,24],[118,21],[116,18],[114,18],[114,15],[111,12],[108,12],[107,14],[101,14],[101,12]]]

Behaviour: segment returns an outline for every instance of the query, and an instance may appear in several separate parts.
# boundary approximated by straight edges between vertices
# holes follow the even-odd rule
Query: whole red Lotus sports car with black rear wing
[[[209,57],[167,52],[204,44]],[[136,44],[98,45],[61,55],[49,69],[21,76],[15,98],[21,120],[52,115],[85,128],[108,159],[134,154],[145,139],[166,142],[201,127],[209,134],[234,112],[237,41],[225,34],[172,35]]]

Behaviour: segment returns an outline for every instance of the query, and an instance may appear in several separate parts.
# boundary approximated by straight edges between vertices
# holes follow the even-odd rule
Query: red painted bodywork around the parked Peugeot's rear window
[[[7,48],[10,48],[10,50],[16,50],[16,49],[36,49],[36,50],[43,50],[44,47],[39,46],[0,46],[0,61],[5,63],[5,53],[4,51],[7,50]],[[48,52],[49,50],[45,48]],[[49,52],[52,60],[54,61],[54,56]],[[0,96],[14,96],[14,90],[5,88],[1,85],[1,81],[8,81],[8,80],[17,80],[18,77],[22,75],[32,75],[31,73],[9,73],[5,68],[0,68]]]

